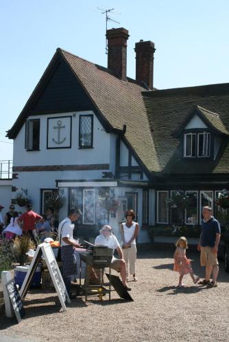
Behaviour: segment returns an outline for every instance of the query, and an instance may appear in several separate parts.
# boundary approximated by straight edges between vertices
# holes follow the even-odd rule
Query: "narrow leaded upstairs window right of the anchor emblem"
[[[93,147],[93,115],[80,115],[79,147]]]

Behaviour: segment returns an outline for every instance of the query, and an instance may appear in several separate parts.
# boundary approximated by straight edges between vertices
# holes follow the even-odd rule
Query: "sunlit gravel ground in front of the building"
[[[33,291],[25,299],[20,324],[0,316],[0,341],[229,341],[229,274],[220,265],[219,286],[206,289],[185,276],[176,289],[172,252],[138,254],[138,282],[129,282],[134,302],[89,298],[72,300],[60,312],[55,293]],[[203,276],[199,254],[188,252],[193,270]]]

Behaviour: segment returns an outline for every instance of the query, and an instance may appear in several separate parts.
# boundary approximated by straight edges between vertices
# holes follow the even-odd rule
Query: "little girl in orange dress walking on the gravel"
[[[200,279],[199,277],[195,278],[193,275],[193,269],[191,267],[191,262],[186,257],[186,249],[188,248],[188,243],[186,237],[180,237],[178,241],[176,241],[176,251],[174,253],[174,267],[173,271],[179,272],[179,284],[178,287],[184,287],[182,284],[182,279],[185,274],[190,274],[193,279],[194,284]]]

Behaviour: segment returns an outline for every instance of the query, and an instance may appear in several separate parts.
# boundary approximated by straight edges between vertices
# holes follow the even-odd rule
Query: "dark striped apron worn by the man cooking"
[[[61,247],[62,273],[64,277],[77,274],[76,251],[73,246]]]

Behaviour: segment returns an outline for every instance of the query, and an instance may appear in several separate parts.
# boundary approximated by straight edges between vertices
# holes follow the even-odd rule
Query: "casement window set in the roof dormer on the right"
[[[185,133],[184,157],[210,157],[210,133]]]

